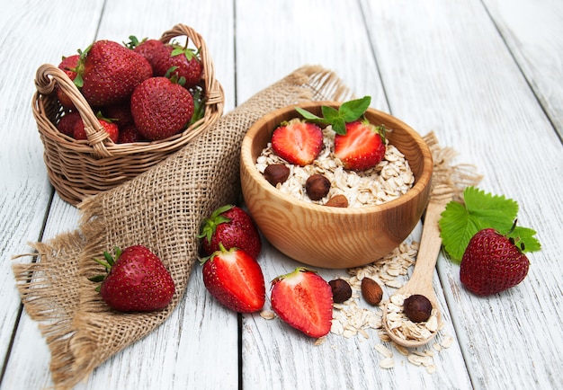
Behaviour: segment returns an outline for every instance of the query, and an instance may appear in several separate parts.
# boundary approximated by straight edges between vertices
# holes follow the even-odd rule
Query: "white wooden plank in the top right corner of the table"
[[[563,3],[486,0],[487,11],[563,138]]]

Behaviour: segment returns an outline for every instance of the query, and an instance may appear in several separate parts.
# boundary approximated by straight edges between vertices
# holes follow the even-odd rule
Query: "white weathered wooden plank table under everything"
[[[379,367],[370,339],[330,334],[315,346],[280,321],[227,311],[192,272],[174,314],[77,386],[183,388],[563,387],[563,2],[559,0],[1,0],[0,388],[51,386],[49,350],[22,310],[11,256],[77,226],[49,185],[31,116],[35,70],[96,38],[159,37],[182,22],[201,32],[226,111],[302,65],[334,70],[372,106],[433,130],[482,189],[515,199],[538,231],[522,284],[492,297],[460,285],[442,255],[434,287],[454,337],[428,374],[395,352]],[[265,278],[296,263],[268,245]],[[342,271],[321,270],[326,279]]]

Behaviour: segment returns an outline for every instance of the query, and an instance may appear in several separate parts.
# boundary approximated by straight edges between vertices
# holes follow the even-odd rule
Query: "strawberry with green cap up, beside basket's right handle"
[[[178,79],[183,77],[185,88],[192,88],[200,82],[203,66],[198,53],[193,49],[176,44],[165,44],[156,48],[153,66],[155,75],[164,76],[173,66],[174,70],[170,75],[176,75]]]

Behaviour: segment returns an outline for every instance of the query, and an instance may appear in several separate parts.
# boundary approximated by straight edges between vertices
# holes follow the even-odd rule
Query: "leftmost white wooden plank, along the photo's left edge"
[[[33,80],[43,63],[57,65],[61,56],[76,52],[81,40],[94,36],[102,1],[77,4],[61,1],[6,2],[0,20],[2,45],[0,107],[0,355],[5,356],[17,321],[20,297],[14,288],[11,256],[28,253],[28,242],[37,241],[49,209],[52,193],[43,146],[31,115]],[[82,10],[83,18],[76,16]],[[65,22],[60,22],[65,21]],[[72,33],[70,33],[72,31]]]

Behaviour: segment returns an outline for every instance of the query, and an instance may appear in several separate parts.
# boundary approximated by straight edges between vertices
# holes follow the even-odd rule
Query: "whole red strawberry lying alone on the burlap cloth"
[[[107,252],[103,253],[107,262],[94,259],[109,273],[90,278],[102,281],[99,291],[108,306],[121,312],[150,312],[168,306],[174,296],[174,280],[156,254],[142,245],[115,251],[115,259]]]

